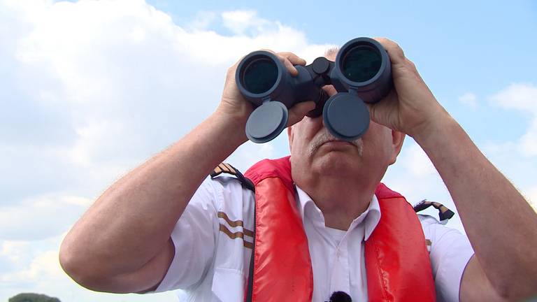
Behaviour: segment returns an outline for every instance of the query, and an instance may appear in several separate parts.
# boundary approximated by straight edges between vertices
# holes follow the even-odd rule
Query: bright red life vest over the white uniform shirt
[[[308,238],[289,157],[259,161],[245,176],[255,185],[252,301],[311,301]],[[435,301],[429,254],[412,206],[382,183],[375,195],[382,215],[365,244],[368,300]]]

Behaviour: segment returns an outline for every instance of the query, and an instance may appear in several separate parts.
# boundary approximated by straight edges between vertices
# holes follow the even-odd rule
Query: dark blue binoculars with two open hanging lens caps
[[[386,50],[372,38],[345,43],[331,62],[318,57],[307,66],[294,66],[292,76],[271,52],[256,51],[244,57],[236,70],[236,83],[255,110],[246,122],[246,136],[266,143],[287,126],[287,108],[302,101],[315,101],[307,115],[322,115],[325,127],[338,139],[353,141],[369,127],[365,103],[376,103],[392,89],[392,65]],[[334,85],[328,97],[322,87]]]

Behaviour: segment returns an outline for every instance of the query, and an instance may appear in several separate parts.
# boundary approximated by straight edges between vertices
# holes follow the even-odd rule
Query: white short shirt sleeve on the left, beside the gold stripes
[[[155,292],[196,285],[213,261],[217,234],[217,187],[207,179],[196,190],[171,233],[173,260]]]

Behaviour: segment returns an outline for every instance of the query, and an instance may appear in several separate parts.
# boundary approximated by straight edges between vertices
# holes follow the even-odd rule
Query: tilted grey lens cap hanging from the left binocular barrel
[[[279,101],[267,101],[248,117],[246,136],[254,143],[266,143],[278,136],[285,126],[289,113],[287,107]]]

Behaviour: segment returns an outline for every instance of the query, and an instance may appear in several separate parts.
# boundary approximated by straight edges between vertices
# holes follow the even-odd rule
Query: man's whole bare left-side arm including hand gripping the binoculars
[[[296,75],[306,64],[289,52],[276,54]],[[253,106],[238,91],[234,64],[213,115],[180,141],[129,172],[104,192],[64,238],[62,267],[84,287],[103,292],[155,289],[175,254],[170,239],[196,189],[213,168],[244,143]],[[315,107],[289,110],[289,124]],[[184,259],[188,261],[188,259]]]

